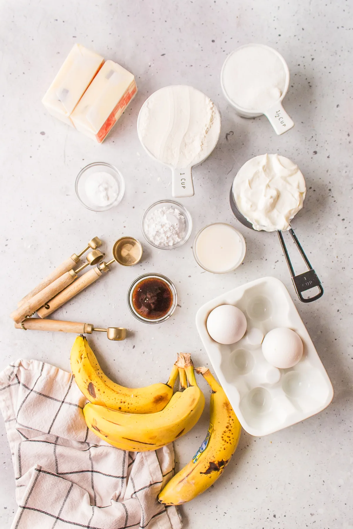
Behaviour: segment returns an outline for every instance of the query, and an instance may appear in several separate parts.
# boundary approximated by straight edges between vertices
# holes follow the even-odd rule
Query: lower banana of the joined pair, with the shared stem
[[[184,367],[185,359],[178,362],[177,368]],[[86,404],[83,413],[87,426],[101,439],[117,448],[140,452],[156,450],[185,435],[197,423],[205,405],[204,395],[196,384],[189,358],[186,364],[189,387],[183,392],[177,391],[162,411],[131,414]]]

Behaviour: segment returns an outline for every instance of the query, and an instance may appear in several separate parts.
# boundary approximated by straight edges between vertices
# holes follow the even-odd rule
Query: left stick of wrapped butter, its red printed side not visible
[[[42,99],[48,112],[73,126],[70,115],[103,62],[98,53],[75,44]]]

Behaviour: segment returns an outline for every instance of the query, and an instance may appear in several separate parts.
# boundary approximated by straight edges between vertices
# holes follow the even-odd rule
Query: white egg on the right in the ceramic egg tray
[[[292,329],[277,327],[266,334],[262,349],[271,366],[288,369],[302,358],[303,342]]]

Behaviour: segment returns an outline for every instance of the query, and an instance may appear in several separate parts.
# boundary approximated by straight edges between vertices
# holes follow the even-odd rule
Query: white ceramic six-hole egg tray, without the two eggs
[[[215,342],[206,329],[207,316],[223,304],[236,305],[247,318],[247,332],[232,345]],[[257,279],[212,299],[198,310],[196,327],[240,424],[251,435],[277,432],[330,404],[331,381],[279,279]],[[275,327],[289,327],[302,339],[303,357],[292,368],[271,366],[261,351],[262,334]]]

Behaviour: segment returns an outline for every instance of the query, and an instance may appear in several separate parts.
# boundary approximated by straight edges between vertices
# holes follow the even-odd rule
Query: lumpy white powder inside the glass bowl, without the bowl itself
[[[185,235],[185,217],[173,206],[155,209],[144,221],[148,239],[159,247],[170,247],[180,242]]]

